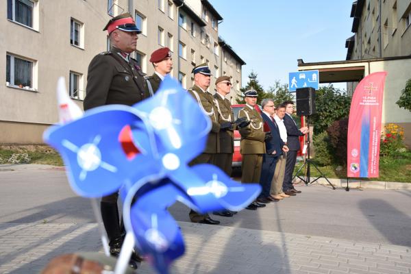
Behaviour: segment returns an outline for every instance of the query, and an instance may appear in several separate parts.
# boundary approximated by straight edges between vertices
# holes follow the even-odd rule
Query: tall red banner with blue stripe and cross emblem
[[[356,87],[349,110],[347,177],[379,176],[379,140],[385,71],[371,73]]]

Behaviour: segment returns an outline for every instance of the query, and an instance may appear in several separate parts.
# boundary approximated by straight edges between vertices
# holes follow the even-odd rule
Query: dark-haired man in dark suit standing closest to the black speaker
[[[297,124],[292,119],[291,114],[294,112],[294,102],[285,101],[282,103],[286,107],[286,115],[284,116],[284,125],[287,129],[287,152],[286,172],[284,174],[283,191],[286,195],[295,196],[301,193],[301,190],[296,190],[292,185],[292,173],[295,168],[295,161],[297,160],[297,151],[300,149],[299,136],[303,136],[308,132],[308,127],[297,128]]]

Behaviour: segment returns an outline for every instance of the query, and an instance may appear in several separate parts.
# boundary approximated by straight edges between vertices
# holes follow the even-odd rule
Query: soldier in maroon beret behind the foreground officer
[[[160,83],[164,77],[173,69],[173,59],[171,58],[171,51],[168,47],[162,47],[151,53],[150,62],[154,66],[153,75],[146,77],[147,92],[153,96],[158,90]]]

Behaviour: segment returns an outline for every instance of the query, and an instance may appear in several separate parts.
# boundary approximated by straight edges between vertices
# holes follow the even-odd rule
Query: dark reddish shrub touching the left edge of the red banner
[[[330,145],[334,151],[334,159],[338,164],[347,164],[348,119],[335,121],[327,128]]]

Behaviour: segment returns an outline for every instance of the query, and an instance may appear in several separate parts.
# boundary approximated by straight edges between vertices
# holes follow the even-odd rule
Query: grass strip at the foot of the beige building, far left
[[[47,145],[0,145],[0,164],[62,166],[60,154]]]

